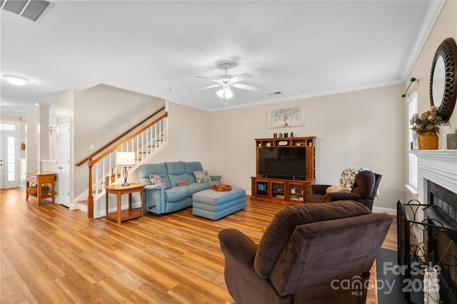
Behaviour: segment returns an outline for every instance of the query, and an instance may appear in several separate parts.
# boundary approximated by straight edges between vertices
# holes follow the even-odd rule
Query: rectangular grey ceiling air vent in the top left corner
[[[1,9],[38,22],[52,9],[54,3],[44,0],[1,0]]]

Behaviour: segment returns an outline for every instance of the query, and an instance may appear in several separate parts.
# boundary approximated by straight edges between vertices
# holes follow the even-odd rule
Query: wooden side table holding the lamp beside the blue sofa
[[[122,221],[129,219],[136,219],[144,214],[144,187],[145,184],[134,184],[131,183],[129,186],[111,185],[106,186],[106,219],[112,219],[117,224],[121,224]],[[131,207],[131,194],[135,192],[141,192],[141,208],[132,209]],[[117,196],[117,209],[116,212],[109,212],[109,199],[108,194],[116,194]],[[129,209],[121,209],[121,196],[122,194],[129,194]]]

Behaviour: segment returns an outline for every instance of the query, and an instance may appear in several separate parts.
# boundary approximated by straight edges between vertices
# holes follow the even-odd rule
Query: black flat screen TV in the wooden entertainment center
[[[262,177],[306,179],[306,147],[263,147],[257,161]]]

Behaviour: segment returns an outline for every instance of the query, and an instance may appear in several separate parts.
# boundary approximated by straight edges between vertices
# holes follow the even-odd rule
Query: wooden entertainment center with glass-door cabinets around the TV
[[[251,177],[251,200],[276,204],[304,204],[311,197],[311,184],[316,181],[316,137],[284,137],[256,139],[256,176]],[[305,178],[265,177],[258,173],[258,153],[271,147],[306,147]]]

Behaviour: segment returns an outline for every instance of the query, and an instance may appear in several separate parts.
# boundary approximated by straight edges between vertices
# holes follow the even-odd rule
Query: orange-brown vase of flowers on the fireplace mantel
[[[414,114],[409,121],[412,125],[411,130],[418,133],[417,141],[419,150],[437,150],[438,149],[438,134],[439,126],[443,118],[438,115],[436,109],[438,107],[432,105],[430,110],[423,112],[421,116]]]

